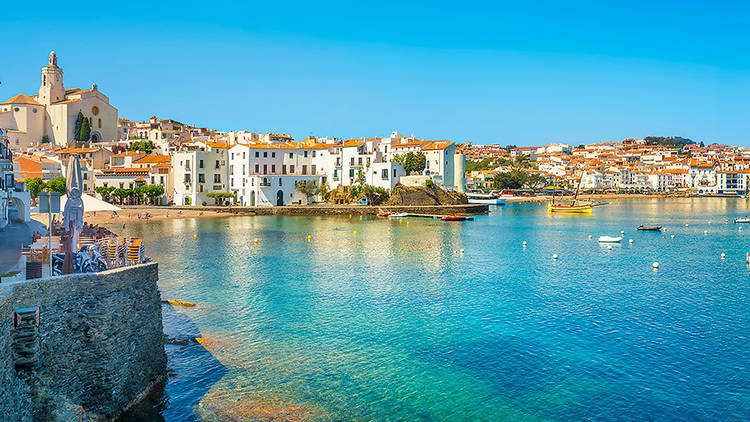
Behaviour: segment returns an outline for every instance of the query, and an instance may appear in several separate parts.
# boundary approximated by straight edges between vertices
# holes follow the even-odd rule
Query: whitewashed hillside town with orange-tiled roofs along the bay
[[[66,88],[55,52],[42,68],[37,93],[0,103],[0,136],[0,225],[7,224],[11,208],[28,219],[24,210],[39,188],[27,184],[64,177],[74,157],[82,165],[84,193],[118,204],[340,203],[359,200],[345,194],[355,185],[390,191],[426,183],[458,192],[580,184],[594,191],[743,195],[750,178],[750,149],[682,138],[503,147],[396,131],[295,140],[156,116],[128,120],[96,83]],[[503,181],[514,172],[524,180]]]

